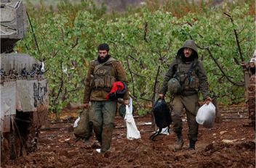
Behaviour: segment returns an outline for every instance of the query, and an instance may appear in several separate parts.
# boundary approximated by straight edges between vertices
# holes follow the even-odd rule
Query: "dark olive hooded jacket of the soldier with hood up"
[[[196,63],[196,66],[194,67],[194,72],[196,72],[196,76],[199,78],[199,91],[201,91],[203,98],[207,98],[210,94],[209,91],[209,85],[207,82],[207,72],[204,69],[204,66],[202,64],[202,62],[200,60],[198,60],[198,54],[196,51],[196,45],[193,41],[186,41],[183,45],[182,48],[180,48],[177,51],[177,56],[176,58],[172,61],[172,63],[169,65],[169,70],[167,71],[165,77],[164,77],[164,81],[162,84],[162,88],[159,91],[159,93],[161,94],[166,94],[167,93],[167,85],[169,80],[174,77],[176,69],[177,69],[177,64],[190,64],[191,62],[184,62],[182,59],[182,54],[183,54],[183,49],[184,48],[189,48],[193,50],[193,62]],[[194,91],[186,91],[184,90],[182,95],[186,96],[189,94],[193,94],[193,93],[198,93],[198,91],[194,90]]]

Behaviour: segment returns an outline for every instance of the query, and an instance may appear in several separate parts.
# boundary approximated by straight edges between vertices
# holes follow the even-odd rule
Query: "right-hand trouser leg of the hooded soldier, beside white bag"
[[[196,114],[199,109],[199,98],[197,95],[183,96],[183,104],[188,119],[188,138],[196,143],[198,138],[199,124],[196,122]]]

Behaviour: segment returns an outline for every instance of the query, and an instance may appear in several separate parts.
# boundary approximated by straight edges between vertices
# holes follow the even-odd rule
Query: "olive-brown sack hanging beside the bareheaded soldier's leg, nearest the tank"
[[[80,116],[78,119],[76,119],[73,127],[73,134],[76,136],[76,138],[89,140],[89,138],[92,136],[92,125],[89,122],[88,109],[84,109],[83,112],[80,113]]]

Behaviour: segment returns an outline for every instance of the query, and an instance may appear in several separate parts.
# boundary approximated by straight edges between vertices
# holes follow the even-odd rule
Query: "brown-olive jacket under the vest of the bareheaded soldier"
[[[94,90],[91,87],[92,78],[94,76],[95,66],[100,64],[97,60],[92,61],[89,64],[89,70],[87,72],[87,78],[85,80],[85,91],[84,91],[84,104],[88,103],[89,101],[107,101],[106,96],[108,95],[107,91],[102,90]],[[114,60],[113,62],[106,63],[104,66],[111,66],[111,74],[114,74],[116,77],[116,81],[124,82],[128,85],[127,82],[127,75],[124,71],[124,67],[122,66],[121,62]],[[124,99],[129,98],[129,91],[127,87],[127,91],[124,94]]]

